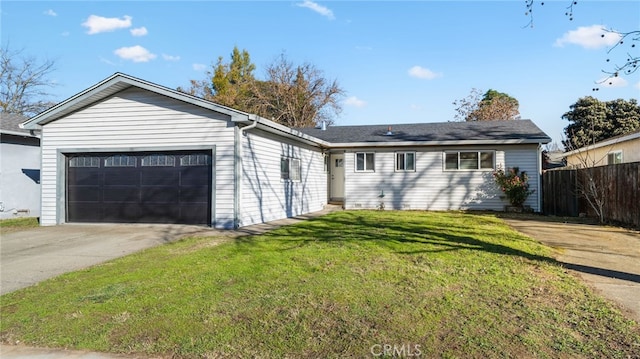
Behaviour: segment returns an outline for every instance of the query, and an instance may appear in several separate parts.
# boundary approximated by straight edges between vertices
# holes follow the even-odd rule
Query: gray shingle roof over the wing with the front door
[[[388,135],[391,127],[392,135]],[[439,122],[365,126],[328,126],[299,131],[332,143],[394,142],[528,142],[548,143],[547,136],[531,120]]]

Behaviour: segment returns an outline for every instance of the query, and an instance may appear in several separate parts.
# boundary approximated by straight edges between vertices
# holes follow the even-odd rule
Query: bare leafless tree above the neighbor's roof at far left
[[[55,62],[25,56],[23,51],[11,51],[8,45],[0,49],[0,109],[29,117],[55,104],[47,100],[47,88],[54,86],[49,75]]]

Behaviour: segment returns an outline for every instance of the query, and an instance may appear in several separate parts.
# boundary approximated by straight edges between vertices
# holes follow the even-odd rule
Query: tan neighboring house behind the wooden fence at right
[[[640,131],[616,136],[565,154],[567,167],[585,168],[640,161]]]

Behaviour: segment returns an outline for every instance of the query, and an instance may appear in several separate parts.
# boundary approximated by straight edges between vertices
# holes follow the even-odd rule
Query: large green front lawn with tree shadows
[[[0,339],[178,358],[640,357],[637,323],[492,215],[345,211],[214,240],[2,296]]]

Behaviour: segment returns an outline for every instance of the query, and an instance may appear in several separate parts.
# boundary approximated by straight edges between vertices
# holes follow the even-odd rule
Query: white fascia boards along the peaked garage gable
[[[21,127],[25,129],[39,129],[39,126],[55,121],[68,113],[86,107],[92,102],[113,95],[131,86],[139,87],[144,90],[157,93],[159,95],[167,96],[182,102],[190,103],[199,107],[207,108],[229,115],[233,121],[242,121],[248,119],[249,117],[249,114],[242,111],[221,106],[213,102],[203,100],[186,93],[171,90],[167,87],[156,85],[154,83],[147,82],[122,73],[115,73],[107,79],[32,117],[31,119],[24,122]],[[100,96],[101,93],[104,93],[104,96]]]

